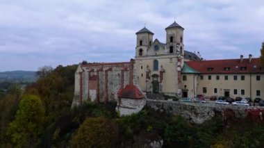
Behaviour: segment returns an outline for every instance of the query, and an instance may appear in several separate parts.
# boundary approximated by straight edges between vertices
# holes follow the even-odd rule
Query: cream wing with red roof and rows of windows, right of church
[[[182,70],[183,97],[264,99],[264,70],[259,58],[188,61]]]

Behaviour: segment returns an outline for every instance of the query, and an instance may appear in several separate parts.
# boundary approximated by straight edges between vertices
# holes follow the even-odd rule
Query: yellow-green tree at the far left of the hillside
[[[33,147],[42,131],[44,108],[39,97],[26,95],[19,102],[15,120],[8,127],[8,135],[15,147]]]

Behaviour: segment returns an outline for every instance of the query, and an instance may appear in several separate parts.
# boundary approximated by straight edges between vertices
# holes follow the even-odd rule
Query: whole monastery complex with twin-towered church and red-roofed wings
[[[165,43],[154,40],[154,33],[145,27],[135,33],[135,58],[128,62],[80,64],[73,105],[117,101],[124,108],[136,108],[131,100],[143,105],[146,94],[264,99],[259,58],[249,54],[247,58],[203,60],[199,52],[184,49],[182,26],[174,22],[165,31]]]

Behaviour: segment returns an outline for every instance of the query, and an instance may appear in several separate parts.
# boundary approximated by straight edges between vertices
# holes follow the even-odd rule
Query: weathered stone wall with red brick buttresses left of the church
[[[75,73],[72,106],[78,106],[83,101],[117,101],[117,91],[129,85],[129,79],[138,87],[134,69],[129,68],[131,63],[133,60],[125,63],[79,65]],[[131,76],[129,70],[132,71]]]

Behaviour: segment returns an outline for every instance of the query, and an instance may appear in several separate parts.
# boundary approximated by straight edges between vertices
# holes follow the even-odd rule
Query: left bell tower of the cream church
[[[135,33],[137,35],[137,42],[135,47],[135,57],[147,56],[147,49],[151,47],[153,42],[153,35],[146,27]]]

